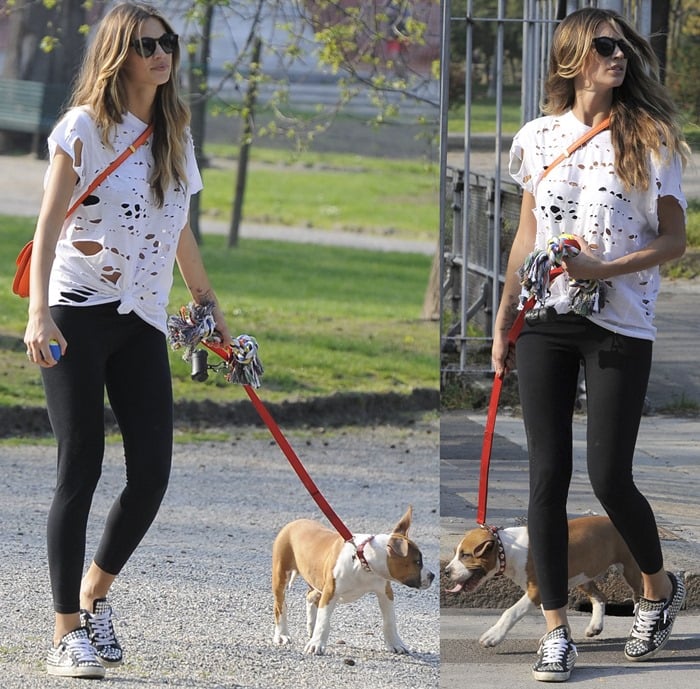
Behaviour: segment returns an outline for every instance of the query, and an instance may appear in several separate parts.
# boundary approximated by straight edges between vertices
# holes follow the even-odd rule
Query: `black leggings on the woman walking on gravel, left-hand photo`
[[[173,398],[163,333],[117,304],[51,308],[68,341],[57,366],[41,369],[58,444],[47,542],[54,609],[80,609],[88,515],[104,455],[104,394],[119,424],[126,486],[94,557],[118,574],[155,518],[172,459]]]

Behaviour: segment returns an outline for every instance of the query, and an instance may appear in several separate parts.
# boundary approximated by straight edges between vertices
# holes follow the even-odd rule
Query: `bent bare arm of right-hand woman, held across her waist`
[[[657,214],[658,237],[639,251],[620,256],[613,261],[598,258],[579,237],[583,250],[578,256],[569,258],[564,263],[569,276],[577,279],[605,280],[653,268],[682,256],[686,244],[685,214],[678,199],[674,196],[662,196],[658,202]]]

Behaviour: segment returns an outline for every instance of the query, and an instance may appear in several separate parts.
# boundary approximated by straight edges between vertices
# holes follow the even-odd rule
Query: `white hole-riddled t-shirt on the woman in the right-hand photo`
[[[577,234],[606,261],[642,249],[658,236],[657,204],[673,196],[685,210],[678,156],[665,160],[649,155],[650,183],[646,191],[625,191],[615,175],[610,132],[605,130],[559,163],[540,182],[540,175],[561,151],[590,130],[573,112],[540,117],[515,135],[510,174],[535,197],[537,239],[543,249],[551,237]],[[662,147],[662,155],[663,155]],[[557,311],[568,310],[568,276],[554,280],[546,301]],[[659,291],[658,267],[605,280],[604,305],[591,320],[608,330],[654,340],[654,308]]]

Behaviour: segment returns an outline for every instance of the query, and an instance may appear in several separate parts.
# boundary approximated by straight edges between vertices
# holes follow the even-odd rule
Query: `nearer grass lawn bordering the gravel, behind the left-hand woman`
[[[0,407],[43,406],[38,370],[24,356],[27,303],[10,292],[14,257],[32,231],[31,219],[3,218]],[[258,339],[264,399],[437,388],[438,326],[421,320],[430,257],[260,240],[227,250],[211,235],[202,254],[229,327]],[[171,312],[188,300],[178,277]],[[192,382],[179,352],[171,363],[176,399],[245,396],[220,375]]]

